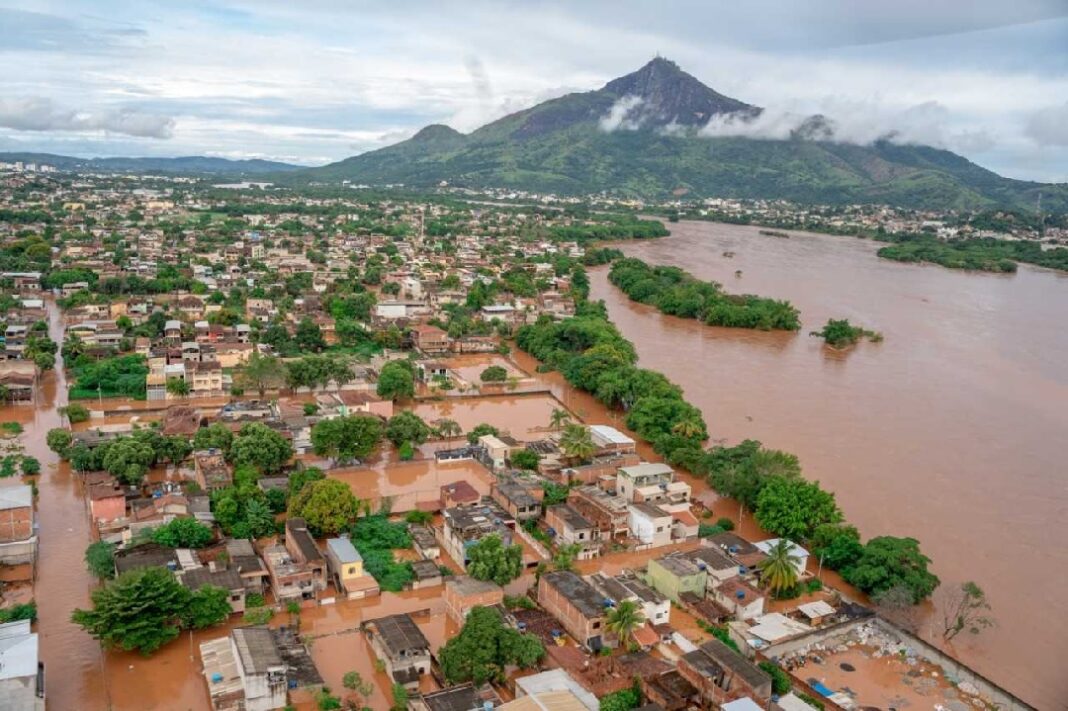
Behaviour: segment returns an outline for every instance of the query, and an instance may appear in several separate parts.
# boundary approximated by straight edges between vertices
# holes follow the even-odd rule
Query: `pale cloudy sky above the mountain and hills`
[[[1068,0],[0,0],[0,151],[321,163],[660,53],[769,124],[1068,180]]]

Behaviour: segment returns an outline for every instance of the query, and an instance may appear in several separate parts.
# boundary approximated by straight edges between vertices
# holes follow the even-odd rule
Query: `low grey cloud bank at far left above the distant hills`
[[[174,118],[134,109],[76,110],[49,98],[0,98],[0,127],[19,131],[105,131],[140,138],[169,139]]]

